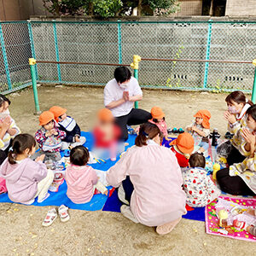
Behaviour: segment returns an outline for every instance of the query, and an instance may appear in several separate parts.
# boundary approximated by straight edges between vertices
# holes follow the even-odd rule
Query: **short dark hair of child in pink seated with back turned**
[[[74,147],[70,151],[70,162],[75,166],[85,166],[89,157],[89,151],[84,146]]]

